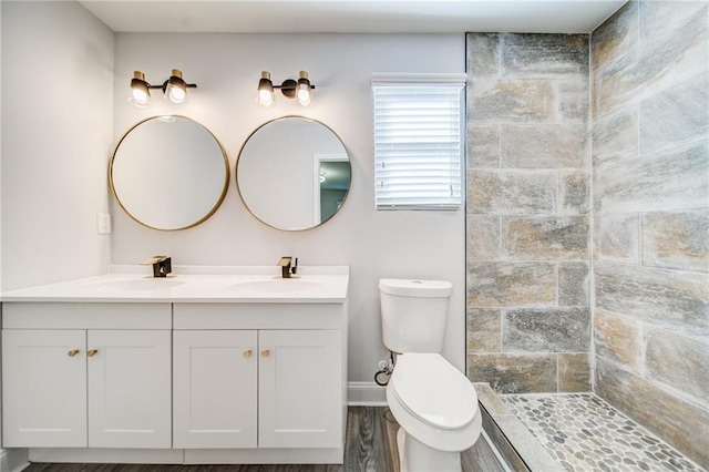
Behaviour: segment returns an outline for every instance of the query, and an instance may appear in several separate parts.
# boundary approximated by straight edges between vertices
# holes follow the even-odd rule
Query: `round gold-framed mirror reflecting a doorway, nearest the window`
[[[330,219],[350,188],[342,141],[325,124],[285,116],[258,127],[236,164],[236,183],[248,211],[277,229],[302,230]]]

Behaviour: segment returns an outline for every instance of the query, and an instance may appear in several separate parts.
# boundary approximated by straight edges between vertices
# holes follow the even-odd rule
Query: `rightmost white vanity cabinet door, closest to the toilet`
[[[342,334],[259,331],[258,447],[342,447]]]

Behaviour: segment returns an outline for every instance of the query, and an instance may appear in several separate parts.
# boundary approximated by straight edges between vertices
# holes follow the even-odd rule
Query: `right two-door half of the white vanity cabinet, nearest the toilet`
[[[346,307],[175,304],[173,438],[186,462],[341,463]]]

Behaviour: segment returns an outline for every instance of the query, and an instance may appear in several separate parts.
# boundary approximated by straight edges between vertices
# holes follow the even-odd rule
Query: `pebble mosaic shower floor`
[[[593,393],[501,396],[567,471],[703,471]]]

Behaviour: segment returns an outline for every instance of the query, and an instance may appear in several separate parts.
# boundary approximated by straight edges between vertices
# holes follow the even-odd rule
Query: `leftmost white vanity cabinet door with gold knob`
[[[86,332],[2,331],[6,448],[86,445]]]

